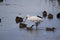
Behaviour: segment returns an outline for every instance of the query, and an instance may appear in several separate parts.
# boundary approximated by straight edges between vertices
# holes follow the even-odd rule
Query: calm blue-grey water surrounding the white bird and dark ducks
[[[39,15],[46,10],[53,14],[53,19],[43,18],[38,26],[38,30],[28,31],[19,29],[19,24],[15,23],[15,17],[25,18],[26,15]],[[0,40],[60,40],[60,19],[56,18],[60,12],[57,0],[6,0],[0,3]],[[28,26],[31,23],[26,22]],[[55,27],[54,32],[47,32],[46,27]],[[41,30],[42,29],[42,30]]]

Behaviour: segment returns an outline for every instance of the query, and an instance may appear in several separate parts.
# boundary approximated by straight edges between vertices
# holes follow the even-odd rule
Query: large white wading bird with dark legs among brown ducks
[[[26,16],[26,20],[35,22],[36,29],[37,29],[38,24],[43,21],[43,19],[38,16],[29,16],[29,15]]]

